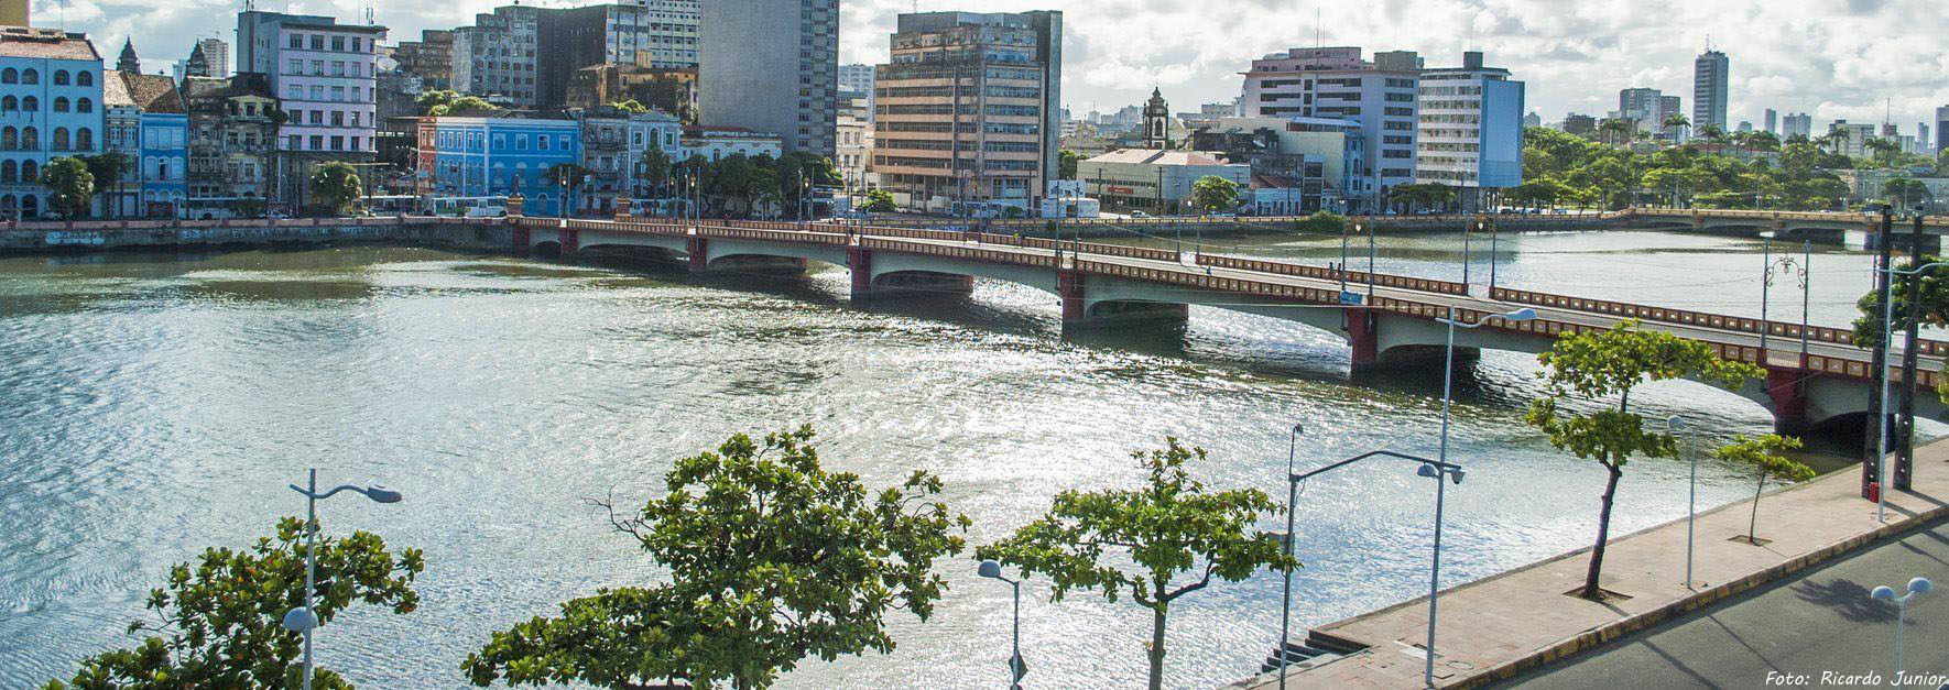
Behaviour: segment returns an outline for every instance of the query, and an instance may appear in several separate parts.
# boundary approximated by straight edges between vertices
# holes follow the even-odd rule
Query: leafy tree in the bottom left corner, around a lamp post
[[[259,538],[249,550],[210,548],[197,561],[177,563],[144,604],[156,622],[129,624],[131,635],[150,633],[138,647],[82,659],[68,682],[53,680],[47,688],[298,686],[304,635],[285,630],[283,620],[304,604],[304,520],[283,518],[277,538]],[[419,606],[413,579],[425,567],[419,550],[388,552],[370,532],[320,536],[312,602],[318,622],[331,622],[353,602],[413,612]],[[329,669],[316,669],[314,682],[351,688]]]

